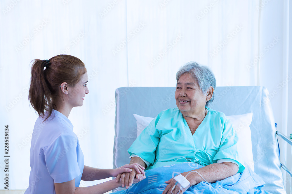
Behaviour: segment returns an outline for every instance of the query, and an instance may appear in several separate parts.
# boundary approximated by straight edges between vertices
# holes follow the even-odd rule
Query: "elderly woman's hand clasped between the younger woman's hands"
[[[122,187],[126,186],[126,188],[129,188],[132,186],[132,184],[137,183],[139,181],[142,181],[146,178],[145,172],[143,174],[137,173],[137,171],[134,168],[131,168],[131,172],[124,172],[123,174],[119,174],[117,176],[116,182],[121,180]]]

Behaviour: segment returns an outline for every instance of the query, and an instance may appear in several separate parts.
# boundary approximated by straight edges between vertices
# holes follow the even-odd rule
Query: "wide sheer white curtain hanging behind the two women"
[[[112,168],[116,88],[175,86],[178,68],[194,60],[211,67],[217,86],[263,85],[271,92],[283,75],[279,65],[283,63],[271,70],[275,65],[270,59],[283,61],[284,6],[278,1],[268,1],[265,6],[260,3],[1,1],[1,127],[8,124],[10,130],[10,189],[28,186],[30,138],[37,118],[28,102],[33,59],[70,54],[85,63],[89,94],[82,107],[72,109],[69,119],[79,137],[85,165]],[[267,30],[264,25],[270,24],[271,18],[281,24]],[[275,47],[256,61],[263,46],[274,37],[280,37]],[[283,107],[274,101],[278,96],[271,99],[273,108]],[[282,108],[274,113],[281,125],[285,115],[278,113]]]

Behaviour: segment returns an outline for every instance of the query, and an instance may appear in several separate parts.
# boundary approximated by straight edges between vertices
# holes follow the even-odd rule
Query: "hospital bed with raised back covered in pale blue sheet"
[[[116,117],[113,167],[130,162],[128,148],[137,138],[137,121],[133,114],[156,117],[168,108],[177,108],[175,87],[123,87],[116,89]],[[291,140],[276,132],[268,91],[260,86],[217,87],[215,99],[209,106],[225,115],[252,113],[250,124],[254,172],[265,182],[262,188],[273,194],[286,193],[279,160],[277,135],[288,143]],[[119,191],[124,188],[117,188]]]

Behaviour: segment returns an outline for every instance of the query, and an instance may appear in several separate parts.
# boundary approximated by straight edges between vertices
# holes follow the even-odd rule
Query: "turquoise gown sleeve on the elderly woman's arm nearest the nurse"
[[[150,122],[128,149],[130,156],[136,154],[151,164],[154,163],[156,147],[160,140],[160,134],[156,130],[160,115],[161,113]]]

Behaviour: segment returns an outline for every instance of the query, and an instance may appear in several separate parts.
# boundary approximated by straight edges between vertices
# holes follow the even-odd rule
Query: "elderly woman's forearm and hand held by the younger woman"
[[[133,164],[133,163],[138,163],[144,168],[146,168],[145,162],[139,157],[132,157],[130,164]],[[125,172],[121,175],[118,175],[117,179],[120,178],[122,187],[126,186],[126,188],[129,188],[129,186],[132,186],[134,178],[140,179],[141,177],[142,177],[142,174],[137,173],[137,171],[132,168],[132,172]]]

